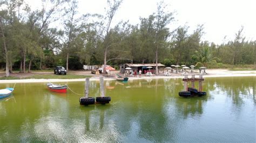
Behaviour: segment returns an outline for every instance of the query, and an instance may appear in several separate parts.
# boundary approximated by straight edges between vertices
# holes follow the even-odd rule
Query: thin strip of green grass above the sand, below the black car
[[[24,77],[23,79],[77,79],[77,78],[86,78],[91,76],[86,75],[33,75]]]

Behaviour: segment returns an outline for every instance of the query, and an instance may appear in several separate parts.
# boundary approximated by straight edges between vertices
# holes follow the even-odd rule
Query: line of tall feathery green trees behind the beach
[[[256,61],[256,41],[245,39],[244,27],[221,45],[202,41],[203,25],[192,33],[187,25],[171,31],[174,15],[163,2],[136,25],[113,25],[122,0],[108,0],[105,15],[81,15],[77,0],[42,1],[42,9],[36,10],[23,0],[0,3],[0,65],[6,76],[13,69],[25,73],[57,65],[69,70],[127,62],[214,67]]]

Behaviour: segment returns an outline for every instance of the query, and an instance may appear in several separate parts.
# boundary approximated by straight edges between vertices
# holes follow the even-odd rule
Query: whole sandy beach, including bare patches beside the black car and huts
[[[197,70],[196,70],[197,72]],[[232,77],[232,76],[256,76],[256,70],[244,70],[244,71],[231,71],[227,69],[207,69],[207,74],[203,77]],[[106,75],[95,75],[91,74],[90,71],[72,71],[72,73],[77,75],[90,75],[92,76],[90,78],[90,81],[97,81],[99,80],[99,77],[104,77],[104,80],[116,80],[116,78],[107,77]],[[115,71],[115,73],[118,73],[118,71]],[[2,73],[3,74],[3,73]],[[33,73],[32,73],[33,74]],[[37,74],[53,74],[51,72],[43,72],[43,73],[37,73]],[[191,74],[188,74],[188,77],[190,77]],[[196,77],[199,76],[198,73],[195,74]],[[142,75],[142,77],[134,76],[127,76],[129,77],[129,80],[139,80],[139,79],[156,79],[156,78],[183,78],[184,76],[181,74],[171,74],[171,76],[165,76],[164,74],[159,75],[152,75],[152,76],[145,76]],[[36,83],[36,82],[76,82],[76,81],[85,81],[84,78],[77,78],[77,79],[24,79],[24,80],[0,80],[1,83]]]

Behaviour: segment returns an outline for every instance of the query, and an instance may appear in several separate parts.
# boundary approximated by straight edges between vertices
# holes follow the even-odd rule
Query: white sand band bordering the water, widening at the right
[[[208,69],[206,70],[207,75],[203,77],[234,77],[234,76],[256,76],[256,70],[246,70],[246,71],[230,71],[226,69]],[[157,78],[183,78],[181,75],[171,75],[171,76],[142,76],[129,77],[129,80],[139,80],[139,79],[157,79]],[[196,75],[198,77],[199,75]],[[191,77],[188,75],[188,77]],[[99,77],[91,77],[90,81],[97,81]],[[115,78],[107,77],[104,80],[116,80]],[[75,82],[75,81],[85,81],[85,78],[79,79],[26,79],[26,80],[0,80],[0,83],[36,83],[36,82]]]

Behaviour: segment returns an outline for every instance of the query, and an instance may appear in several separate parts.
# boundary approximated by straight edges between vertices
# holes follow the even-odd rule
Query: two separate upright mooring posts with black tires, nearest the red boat
[[[94,97],[89,97],[90,78],[85,79],[85,91],[84,91],[85,96],[80,97],[79,99],[80,105],[106,104],[111,101],[111,97],[105,97],[103,77],[100,77],[99,81],[100,81],[100,97],[96,97],[96,101],[95,101]]]

